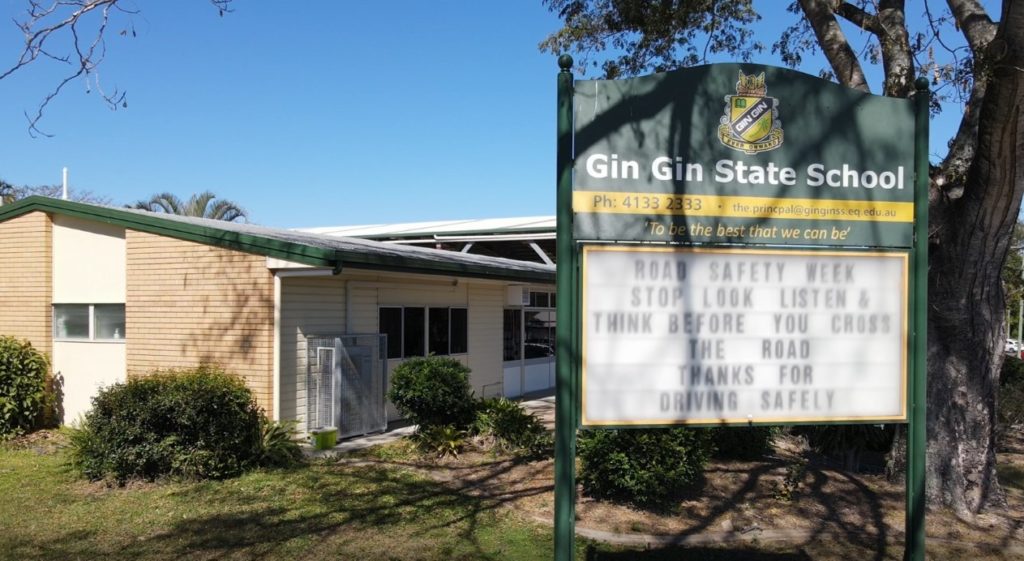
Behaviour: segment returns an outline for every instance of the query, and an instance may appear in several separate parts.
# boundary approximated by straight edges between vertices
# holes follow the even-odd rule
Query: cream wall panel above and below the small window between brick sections
[[[124,228],[53,216],[53,303],[125,303]],[[126,334],[131,337],[131,334]],[[88,411],[99,388],[125,381],[124,341],[53,340],[53,372],[63,379],[63,420]]]

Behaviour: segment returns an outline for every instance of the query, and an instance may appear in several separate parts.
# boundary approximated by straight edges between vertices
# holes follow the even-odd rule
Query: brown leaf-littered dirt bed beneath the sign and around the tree
[[[550,459],[528,462],[471,450],[456,460],[372,462],[411,469],[528,519],[547,523],[554,519]],[[1024,454],[1002,454],[999,462],[1024,468]],[[887,545],[903,542],[902,482],[836,469],[806,450],[799,439],[780,439],[775,452],[761,461],[713,461],[705,475],[700,488],[668,512],[595,501],[578,489],[577,527],[627,538],[663,536],[675,543],[701,535],[719,542],[760,537],[797,544],[825,538],[884,551]],[[929,540],[1024,556],[1024,493],[1011,492],[1008,499],[1006,508],[973,520],[945,511],[928,512]]]

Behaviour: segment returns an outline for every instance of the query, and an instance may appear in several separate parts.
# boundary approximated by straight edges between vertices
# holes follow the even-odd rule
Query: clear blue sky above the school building
[[[0,0],[5,67],[24,5]],[[60,69],[0,81],[0,177],[58,183],[67,166],[115,204],[209,189],[284,227],[554,213],[557,66],[537,45],[558,20],[540,0],[136,5],[137,37],[112,34],[100,68],[127,109],[72,83],[41,123],[54,136],[32,138],[23,113]]]

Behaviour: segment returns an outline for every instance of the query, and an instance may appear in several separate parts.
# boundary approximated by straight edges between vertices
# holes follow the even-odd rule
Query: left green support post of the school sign
[[[558,57],[557,222],[555,290],[555,561],[575,555],[575,323],[572,247],[572,57]]]

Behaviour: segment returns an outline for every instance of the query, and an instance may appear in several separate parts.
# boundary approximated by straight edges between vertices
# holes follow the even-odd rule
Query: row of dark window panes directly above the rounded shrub
[[[381,307],[380,333],[387,335],[387,357],[465,354],[469,351],[466,308]]]

